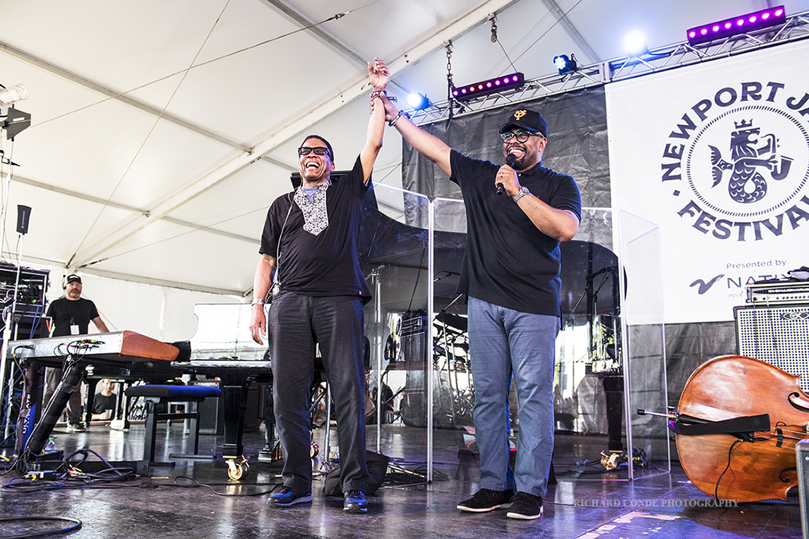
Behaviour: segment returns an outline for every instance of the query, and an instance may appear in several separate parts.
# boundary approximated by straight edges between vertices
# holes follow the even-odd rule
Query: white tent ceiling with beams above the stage
[[[244,294],[270,203],[290,190],[294,148],[317,133],[350,168],[367,122],[366,65],[389,93],[447,95],[511,70],[553,72],[650,48],[765,0],[0,0],[0,84],[25,84],[32,126],[11,142],[4,261],[15,207],[32,206],[23,264]],[[793,14],[809,0],[786,3]],[[490,19],[496,15],[498,41]],[[335,16],[340,15],[340,16]],[[5,112],[5,108],[3,109]],[[386,133],[375,180],[400,185]]]

